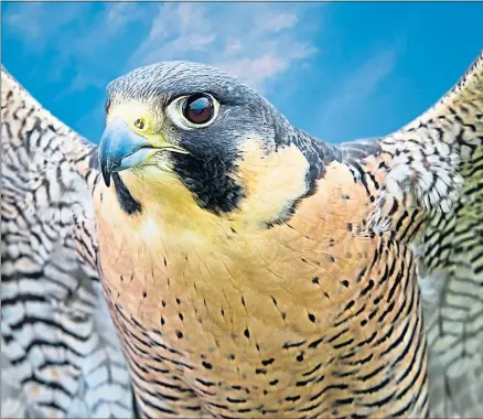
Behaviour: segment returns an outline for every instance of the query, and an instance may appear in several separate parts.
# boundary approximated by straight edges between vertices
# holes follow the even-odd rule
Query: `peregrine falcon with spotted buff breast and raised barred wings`
[[[107,96],[97,148],[2,69],[2,355],[42,415],[86,402],[85,369],[132,408],[120,347],[142,418],[481,415],[482,53],[409,125],[339,146],[202,64]],[[97,277],[120,344],[95,333],[83,368],[61,355],[106,322]]]

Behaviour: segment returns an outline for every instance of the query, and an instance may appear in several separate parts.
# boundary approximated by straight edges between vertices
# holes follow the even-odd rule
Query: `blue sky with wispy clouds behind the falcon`
[[[94,142],[105,87],[167,60],[246,79],[331,142],[388,133],[432,105],[483,47],[477,2],[2,2],[2,63]]]

